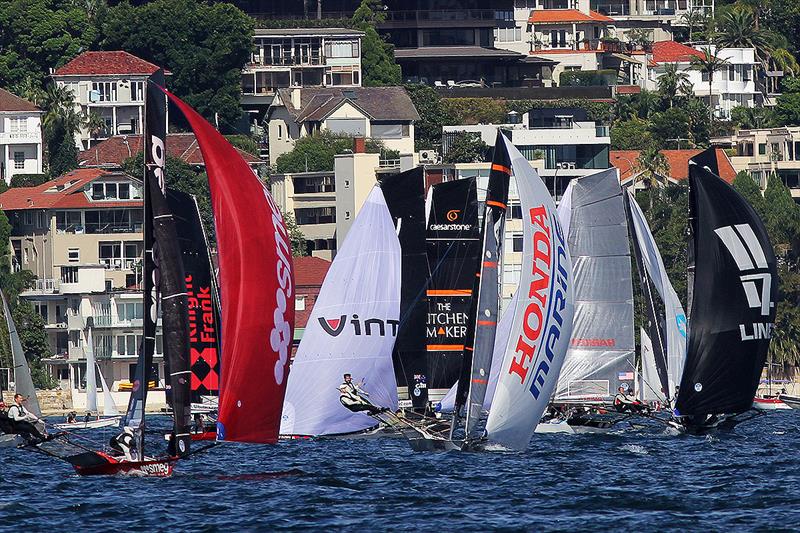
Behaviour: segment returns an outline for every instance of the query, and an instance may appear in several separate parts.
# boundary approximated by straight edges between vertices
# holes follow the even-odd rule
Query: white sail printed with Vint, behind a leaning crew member
[[[397,409],[392,365],[400,321],[400,243],[383,192],[373,188],[331,264],[289,372],[283,435],[375,425],[339,402],[345,373],[377,406]]]

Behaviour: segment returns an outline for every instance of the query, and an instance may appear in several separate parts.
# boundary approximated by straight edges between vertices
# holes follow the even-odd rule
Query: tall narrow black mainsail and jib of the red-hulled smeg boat
[[[161,304],[164,357],[168,371],[168,401],[172,407],[174,427],[170,454],[189,453],[189,320],[181,249],[175,222],[166,198],[166,97],[157,86],[161,79],[147,84],[145,105],[145,369],[147,358],[152,362],[155,347],[155,322]],[[148,212],[149,210],[149,212]],[[150,215],[150,216],[148,216]],[[145,387],[146,388],[146,387]]]

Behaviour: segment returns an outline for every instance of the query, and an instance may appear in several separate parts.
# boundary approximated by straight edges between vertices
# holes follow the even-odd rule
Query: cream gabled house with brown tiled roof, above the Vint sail
[[[298,139],[318,131],[367,137],[411,154],[419,114],[402,87],[293,87],[278,90],[265,120],[274,164]]]

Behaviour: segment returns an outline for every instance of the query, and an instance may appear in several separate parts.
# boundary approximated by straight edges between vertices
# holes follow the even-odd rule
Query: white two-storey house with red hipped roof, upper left
[[[72,91],[76,111],[96,113],[105,123],[98,131],[81,128],[76,136],[80,149],[113,135],[141,135],[145,83],[158,69],[124,51],[83,52],[56,69],[53,81]]]

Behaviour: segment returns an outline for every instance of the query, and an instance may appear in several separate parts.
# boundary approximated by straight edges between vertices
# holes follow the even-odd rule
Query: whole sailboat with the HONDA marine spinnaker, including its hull
[[[513,318],[485,428],[481,428],[497,332],[498,265],[509,180],[517,181],[524,213],[520,290],[506,313]],[[484,204],[481,261],[464,364],[447,431],[410,426],[413,449],[475,450],[497,444],[522,450],[541,418],[572,330],[572,265],[555,205],[528,161],[498,132]],[[462,413],[462,410],[464,411]]]

